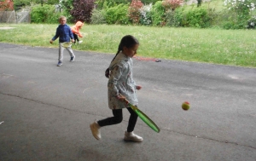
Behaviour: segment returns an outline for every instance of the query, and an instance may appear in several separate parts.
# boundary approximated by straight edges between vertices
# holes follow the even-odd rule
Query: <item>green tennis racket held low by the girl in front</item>
[[[159,127],[158,127],[156,124],[154,124],[154,121],[152,121],[150,118],[148,118],[148,116],[147,116],[145,113],[143,113],[142,111],[140,111],[140,110],[137,108],[137,106],[131,105],[131,103],[130,103],[129,101],[127,101],[126,99],[125,99],[124,101],[125,101],[125,103],[126,103],[127,105],[131,106],[131,109],[132,109],[134,112],[137,113],[137,116],[138,116],[139,118],[141,118],[144,123],[148,124],[148,126],[149,126],[151,129],[153,129],[155,132],[157,132],[157,133],[160,132]]]

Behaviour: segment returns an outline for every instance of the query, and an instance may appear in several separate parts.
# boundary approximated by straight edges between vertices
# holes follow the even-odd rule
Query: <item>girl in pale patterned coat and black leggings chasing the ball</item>
[[[131,104],[137,106],[136,89],[142,89],[136,85],[132,78],[132,60],[131,58],[137,54],[139,43],[135,37],[126,35],[119,43],[119,49],[109,66],[108,79],[108,107],[112,109],[113,117],[95,121],[90,124],[90,130],[96,140],[101,140],[100,128],[107,125],[119,124],[123,120],[122,109],[126,108],[131,116],[127,130],[125,131],[125,141],[143,141],[141,136],[135,135],[133,129],[137,122],[137,114],[131,107],[125,104],[126,98]]]

